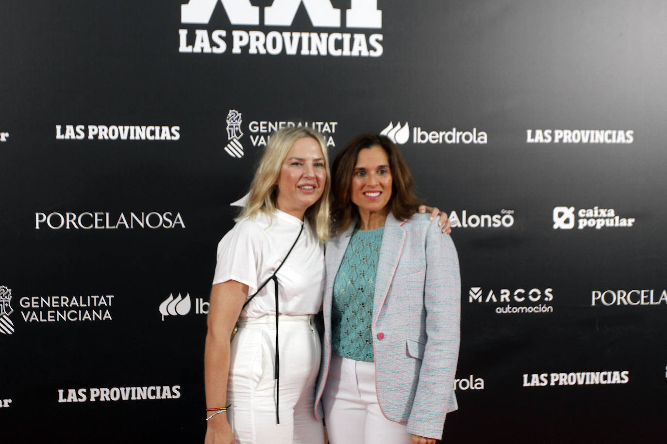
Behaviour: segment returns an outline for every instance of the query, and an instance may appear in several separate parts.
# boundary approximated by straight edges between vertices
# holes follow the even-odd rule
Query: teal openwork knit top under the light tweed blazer
[[[331,350],[373,362],[373,295],[384,227],[356,230],[333,282]]]

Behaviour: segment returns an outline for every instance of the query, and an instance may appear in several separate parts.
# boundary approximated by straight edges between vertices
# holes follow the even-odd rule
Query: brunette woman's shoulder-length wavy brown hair
[[[333,160],[331,190],[333,204],[331,206],[332,231],[340,233],[348,229],[352,222],[358,222],[359,210],[352,203],[350,188],[352,174],[357,163],[357,156],[364,148],[380,146],[389,158],[392,172],[392,198],[389,207],[398,220],[409,219],[418,210],[420,199],[417,198],[412,182],[412,174],[406,160],[394,142],[380,134],[361,134],[356,136],[338,152]]]

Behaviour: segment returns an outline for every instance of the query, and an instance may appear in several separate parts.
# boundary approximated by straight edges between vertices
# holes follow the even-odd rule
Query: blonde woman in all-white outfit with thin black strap
[[[245,209],[217,248],[204,357],[207,444],[324,442],[313,414],[313,315],[321,308],[330,183],[318,132],[271,136]]]

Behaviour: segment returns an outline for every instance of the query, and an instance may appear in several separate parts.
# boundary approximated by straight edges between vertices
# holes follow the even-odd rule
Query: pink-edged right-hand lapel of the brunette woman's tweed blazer
[[[394,272],[401,258],[403,244],[406,240],[406,230],[390,212],[384,224],[382,234],[382,246],[380,247],[380,258],[378,260],[378,271],[376,274],[376,288],[373,298],[373,325],[378,322],[378,316],[387,298],[389,288],[394,279]]]

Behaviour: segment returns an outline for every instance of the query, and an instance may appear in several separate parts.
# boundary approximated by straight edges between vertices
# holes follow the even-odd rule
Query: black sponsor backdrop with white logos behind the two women
[[[0,441],[201,442],[276,128],[400,146],[462,272],[447,443],[662,442],[667,3],[5,1]]]

